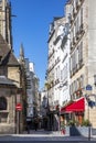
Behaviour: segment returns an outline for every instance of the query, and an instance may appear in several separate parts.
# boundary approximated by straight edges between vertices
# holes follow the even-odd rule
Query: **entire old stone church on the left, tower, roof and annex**
[[[21,133],[25,124],[25,73],[12,50],[11,3],[0,1],[0,134]],[[22,110],[17,111],[17,103]]]

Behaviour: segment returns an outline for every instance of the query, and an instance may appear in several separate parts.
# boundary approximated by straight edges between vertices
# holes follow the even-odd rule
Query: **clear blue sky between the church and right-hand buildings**
[[[14,55],[19,57],[20,45],[24,55],[34,63],[35,74],[43,87],[47,68],[49,26],[54,16],[64,15],[66,0],[11,0],[12,35]]]

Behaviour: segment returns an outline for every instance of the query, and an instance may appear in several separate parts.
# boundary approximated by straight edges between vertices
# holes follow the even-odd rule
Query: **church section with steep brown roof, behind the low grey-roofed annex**
[[[26,88],[25,88],[25,68],[23,63],[19,63],[8,43],[0,35],[0,76],[6,76],[15,85],[15,106],[22,105],[20,112],[20,131],[17,129],[18,112],[15,112],[15,132],[22,132],[25,128],[26,118]],[[6,87],[4,87],[6,88]],[[11,117],[10,117],[11,118]],[[18,130],[18,131],[17,131]],[[13,131],[13,130],[12,130]],[[9,132],[9,131],[8,131]]]

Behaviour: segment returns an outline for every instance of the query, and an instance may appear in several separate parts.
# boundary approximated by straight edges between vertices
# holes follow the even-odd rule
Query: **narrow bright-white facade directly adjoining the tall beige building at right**
[[[65,24],[67,33],[64,33],[62,40],[62,63],[61,63],[61,106],[63,107],[71,100],[70,96],[70,34],[67,23]]]

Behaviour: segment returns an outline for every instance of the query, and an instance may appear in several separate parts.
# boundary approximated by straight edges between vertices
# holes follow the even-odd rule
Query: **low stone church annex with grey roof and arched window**
[[[15,133],[17,86],[6,76],[0,76],[0,134]]]

